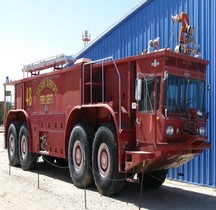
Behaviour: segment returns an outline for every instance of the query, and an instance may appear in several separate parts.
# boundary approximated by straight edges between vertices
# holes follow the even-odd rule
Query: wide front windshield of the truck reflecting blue
[[[165,82],[165,107],[171,112],[203,111],[205,82],[169,75]]]

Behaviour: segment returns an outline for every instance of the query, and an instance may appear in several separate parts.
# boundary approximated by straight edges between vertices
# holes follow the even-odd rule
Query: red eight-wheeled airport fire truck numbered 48
[[[60,56],[25,66],[25,78],[5,83],[15,94],[5,119],[11,166],[30,170],[38,156],[67,160],[75,186],[94,182],[110,196],[127,177],[137,173],[141,181],[142,171],[144,186],[159,187],[168,169],[210,147],[208,61],[168,49],[70,61]]]

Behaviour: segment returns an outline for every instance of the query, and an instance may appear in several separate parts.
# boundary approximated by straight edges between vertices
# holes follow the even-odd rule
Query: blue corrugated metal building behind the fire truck
[[[113,56],[114,59],[140,54],[148,41],[160,37],[161,47],[174,49],[178,44],[181,24],[174,24],[171,16],[186,12],[190,25],[196,29],[201,57],[209,60],[207,95],[209,112],[208,137],[210,150],[188,164],[170,170],[171,179],[216,187],[216,1],[215,0],[143,0],[126,16],[81,50],[76,57],[93,60]],[[182,173],[184,176],[179,176]]]

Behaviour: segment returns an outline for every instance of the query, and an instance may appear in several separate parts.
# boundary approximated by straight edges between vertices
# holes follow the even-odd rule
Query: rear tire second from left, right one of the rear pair
[[[36,167],[37,155],[30,152],[29,132],[26,123],[23,123],[19,132],[19,159],[23,170]]]

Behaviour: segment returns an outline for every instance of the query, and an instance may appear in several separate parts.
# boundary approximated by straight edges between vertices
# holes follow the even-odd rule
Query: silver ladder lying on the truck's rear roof
[[[64,64],[74,62],[74,58],[72,56],[66,56],[64,54],[56,55],[53,57],[49,57],[28,65],[23,66],[23,76],[25,73],[31,73],[32,75],[37,75],[41,70],[54,68],[58,69],[59,66],[63,66]]]

